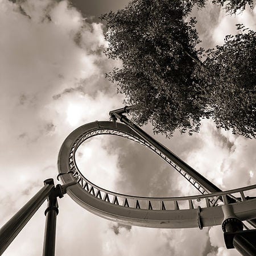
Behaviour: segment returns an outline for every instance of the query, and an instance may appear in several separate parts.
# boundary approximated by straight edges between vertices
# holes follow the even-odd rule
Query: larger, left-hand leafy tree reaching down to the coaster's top
[[[207,101],[193,77],[203,69],[195,19],[186,22],[192,5],[184,1],[138,0],[106,20],[106,55],[121,59],[123,68],[108,75],[125,93],[127,104],[137,104],[134,121],[151,121],[156,132],[171,135],[199,130],[207,117]]]

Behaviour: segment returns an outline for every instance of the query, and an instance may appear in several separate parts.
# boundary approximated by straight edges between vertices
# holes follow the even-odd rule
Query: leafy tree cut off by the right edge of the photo
[[[226,36],[223,46],[209,49],[204,65],[214,74],[204,77],[212,86],[212,117],[218,127],[256,137],[256,32],[237,24],[239,33]]]

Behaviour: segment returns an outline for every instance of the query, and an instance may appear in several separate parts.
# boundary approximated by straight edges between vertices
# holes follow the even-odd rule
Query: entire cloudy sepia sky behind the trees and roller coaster
[[[105,79],[120,61],[103,51],[101,13],[128,1],[0,0],[0,226],[24,205],[43,181],[57,176],[59,148],[72,130],[108,120],[123,96]],[[214,47],[236,32],[236,23],[255,30],[256,9],[229,16],[208,3],[193,10],[202,46]],[[143,127],[152,135],[150,125]],[[199,134],[154,135],[181,159],[221,189],[256,183],[255,140],[217,130],[203,121]],[[122,138],[99,136],[77,151],[77,163],[89,180],[116,192],[138,196],[184,196],[197,192],[156,155]],[[44,210],[35,213],[3,254],[40,255]],[[151,229],[123,226],[87,212],[68,195],[59,199],[56,255],[233,256],[220,226],[199,229]]]

